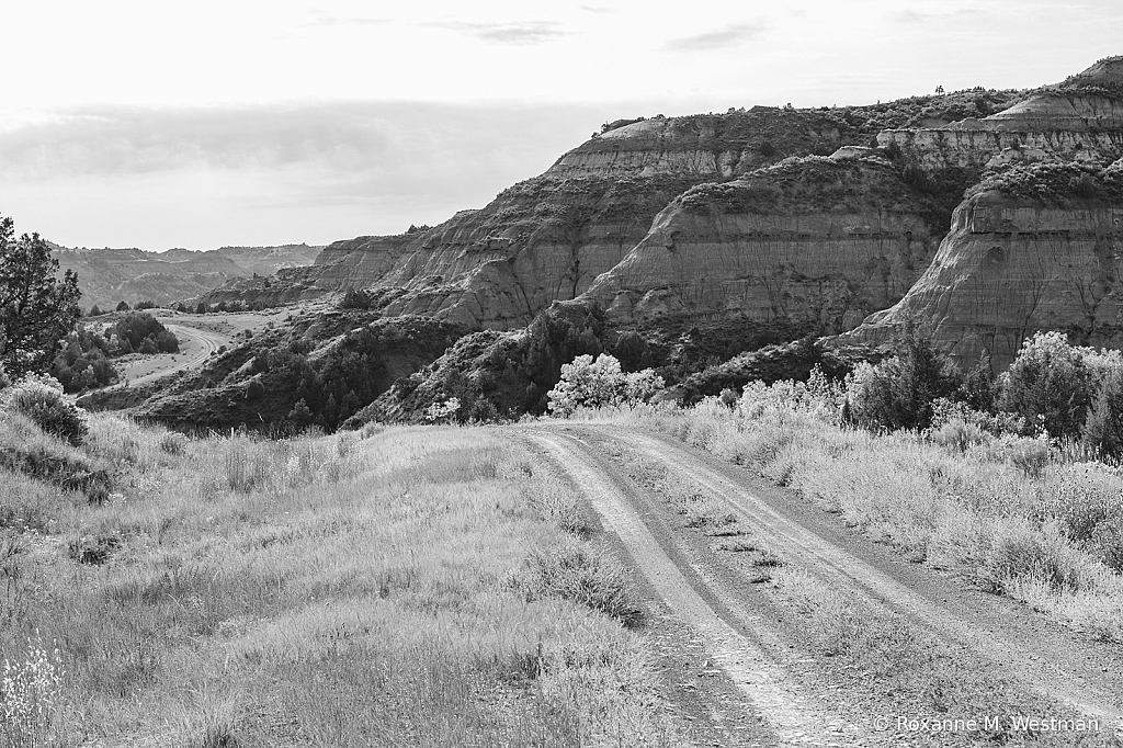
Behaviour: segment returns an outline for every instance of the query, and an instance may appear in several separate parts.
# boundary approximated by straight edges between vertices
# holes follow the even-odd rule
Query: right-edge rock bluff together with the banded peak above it
[[[983,181],[915,286],[849,338],[880,341],[926,320],[961,365],[986,356],[996,371],[1039,330],[1123,346],[1123,58],[992,117],[879,142],[924,168],[983,170]]]

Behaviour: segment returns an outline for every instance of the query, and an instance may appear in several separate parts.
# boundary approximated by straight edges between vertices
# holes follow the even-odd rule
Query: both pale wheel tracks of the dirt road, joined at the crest
[[[1123,726],[1123,647],[1081,639],[1025,605],[909,564],[792,492],[670,437],[575,423],[536,426],[523,434],[569,473],[658,594],[706,638],[715,659],[772,717],[786,744],[820,744],[831,735],[833,742],[847,744],[840,731],[857,738],[859,730],[832,721],[812,699],[793,691],[776,657],[783,648],[769,646],[768,622],[720,599],[705,568],[676,558],[672,544],[652,535],[626,482],[613,475],[605,446],[614,443],[688,475],[769,538],[775,550],[798,558],[832,586],[977,651],[1024,686],[1099,718],[1105,727]],[[737,614],[723,608],[737,608]],[[810,724],[823,727],[816,735],[809,732]]]

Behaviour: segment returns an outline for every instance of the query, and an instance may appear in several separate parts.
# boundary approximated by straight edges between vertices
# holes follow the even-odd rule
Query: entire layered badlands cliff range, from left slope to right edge
[[[1001,362],[1033,329],[1114,340],[1102,257],[1114,203],[1079,194],[1087,180],[1106,184],[1099,172],[1120,156],[1123,58],[1025,92],[618,120],[480,210],[336,243],[312,267],[209,299],[356,288],[384,314],[499,330],[569,300],[596,304],[615,328],[673,318],[838,334],[869,317],[853,336],[864,340],[907,313],[940,320],[961,357]],[[1052,202],[994,181],[1032,183],[1057,164],[1085,182]],[[980,181],[989,186],[957,209]],[[983,282],[984,255],[1003,257],[1001,282]],[[1029,313],[1040,288],[1050,303]],[[962,300],[968,289],[977,301]]]

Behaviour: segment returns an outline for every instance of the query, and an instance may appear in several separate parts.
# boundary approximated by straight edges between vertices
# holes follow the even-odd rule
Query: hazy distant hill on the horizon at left
[[[273,275],[284,267],[311,265],[322,247],[221,247],[206,252],[168,249],[85,249],[55,246],[61,271],[77,273],[82,308],[113,307],[120,301],[167,303],[198,297],[227,281]]]

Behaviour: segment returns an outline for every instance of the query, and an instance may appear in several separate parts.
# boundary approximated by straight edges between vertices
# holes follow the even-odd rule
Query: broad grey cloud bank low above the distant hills
[[[258,174],[268,189],[237,200],[368,206],[459,195],[460,208],[480,207],[473,201],[545,171],[604,118],[602,109],[347,101],[73,107],[0,131],[0,174],[13,191],[46,182]],[[481,194],[481,185],[491,194]]]

